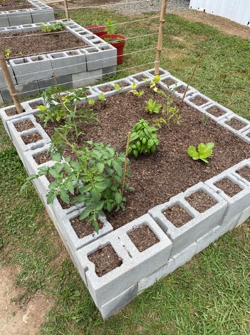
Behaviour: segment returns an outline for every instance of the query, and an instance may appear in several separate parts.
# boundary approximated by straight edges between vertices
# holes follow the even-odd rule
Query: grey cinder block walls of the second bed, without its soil
[[[63,21],[66,29],[87,47],[10,59],[9,70],[20,98],[36,95],[53,86],[53,72],[58,84],[64,84],[68,89],[94,84],[96,80],[116,72],[117,49],[74,21],[58,21]],[[48,24],[58,21],[48,21]],[[0,28],[0,34],[14,31],[26,33],[39,29],[40,24],[23,24]],[[12,101],[1,69],[0,96],[0,102]]]

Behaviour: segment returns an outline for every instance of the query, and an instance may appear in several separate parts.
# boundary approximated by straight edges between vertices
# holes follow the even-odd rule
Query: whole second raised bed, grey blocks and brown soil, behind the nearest
[[[93,84],[115,73],[117,51],[113,46],[74,21],[49,21],[46,26],[60,22],[66,31],[51,34],[44,34],[41,24],[0,28],[1,45],[9,51],[9,71],[20,98],[53,85],[53,71],[58,84],[67,88]],[[9,38],[11,35],[14,37]],[[8,101],[11,96],[0,69],[0,104]]]

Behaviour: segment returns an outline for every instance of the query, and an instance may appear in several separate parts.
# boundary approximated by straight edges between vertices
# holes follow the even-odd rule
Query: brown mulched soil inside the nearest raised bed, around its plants
[[[119,151],[125,151],[127,132],[131,131],[134,124],[142,118],[152,124],[152,119],[159,117],[158,114],[154,116],[145,111],[145,101],[152,98],[157,103],[165,103],[165,99],[149,86],[141,86],[140,89],[145,91],[140,99],[131,92],[125,92],[110,96],[106,101],[96,101],[93,108],[98,113],[100,124],[83,126],[85,136],[81,136],[81,142],[103,141]],[[177,105],[179,101],[175,99]],[[143,154],[138,159],[130,155],[129,169],[133,177],[127,181],[135,187],[135,191],[125,191],[125,211],[106,213],[114,229],[147,213],[153,206],[169,201],[172,196],[197,182],[206,181],[249,158],[249,144],[212,119],[204,126],[201,120],[199,111],[184,104],[182,122],[179,125],[171,124],[171,129],[162,126],[157,131],[160,145],[155,154]],[[42,120],[38,122],[43,125]],[[45,130],[49,136],[53,134],[55,126],[48,123]],[[194,161],[187,155],[188,146],[210,141],[215,146],[214,156],[209,158],[208,164]]]

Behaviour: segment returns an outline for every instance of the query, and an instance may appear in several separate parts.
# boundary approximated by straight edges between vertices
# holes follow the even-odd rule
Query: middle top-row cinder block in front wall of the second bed
[[[47,54],[47,56],[48,59],[51,59],[56,76],[77,74],[87,70],[86,56],[80,50],[54,52],[53,54]]]

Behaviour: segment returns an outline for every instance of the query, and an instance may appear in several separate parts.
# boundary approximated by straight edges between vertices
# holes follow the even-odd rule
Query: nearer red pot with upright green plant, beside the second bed
[[[115,24],[111,19],[108,19],[106,28],[106,34],[101,36],[104,41],[114,46],[118,50],[117,64],[123,63],[123,49],[125,46],[125,36],[115,34]]]

